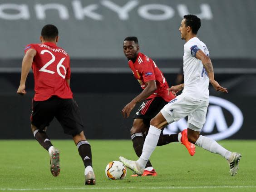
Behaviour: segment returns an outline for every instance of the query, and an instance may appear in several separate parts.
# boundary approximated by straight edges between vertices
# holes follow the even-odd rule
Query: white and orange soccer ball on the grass
[[[112,161],[108,163],[105,173],[112,180],[124,179],[126,176],[126,167],[120,161]]]

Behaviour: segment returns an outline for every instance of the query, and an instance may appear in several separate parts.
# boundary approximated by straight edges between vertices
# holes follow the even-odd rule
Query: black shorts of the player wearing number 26
[[[48,127],[56,117],[64,133],[75,136],[84,130],[77,103],[72,98],[51,97],[46,101],[32,101],[31,124],[39,129]]]

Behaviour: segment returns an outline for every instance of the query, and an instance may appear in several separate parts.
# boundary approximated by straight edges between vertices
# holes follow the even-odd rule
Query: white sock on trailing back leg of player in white
[[[211,138],[207,138],[200,135],[195,145],[197,145],[198,147],[204,148],[207,151],[210,151],[212,153],[220,154],[226,160],[229,160],[231,158],[232,153],[226,150],[225,148],[223,148],[221,145],[219,145],[216,141],[214,141]]]

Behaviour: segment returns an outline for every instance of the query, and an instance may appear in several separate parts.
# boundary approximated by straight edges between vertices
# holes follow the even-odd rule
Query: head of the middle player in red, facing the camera
[[[126,37],[123,40],[123,53],[127,59],[137,58],[139,52],[138,38]]]

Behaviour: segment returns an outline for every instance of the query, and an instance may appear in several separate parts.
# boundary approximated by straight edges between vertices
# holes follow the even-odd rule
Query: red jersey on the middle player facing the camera
[[[133,71],[135,79],[138,80],[142,89],[146,88],[147,85],[145,83],[147,81],[156,81],[157,90],[148,98],[162,97],[167,102],[175,98],[172,93],[168,95],[167,89],[169,88],[169,86],[166,82],[165,77],[163,76],[162,72],[157,67],[155,62],[148,56],[139,53],[135,63],[133,63],[132,60],[129,60],[128,64]]]

